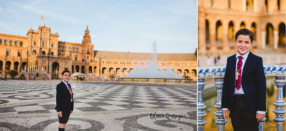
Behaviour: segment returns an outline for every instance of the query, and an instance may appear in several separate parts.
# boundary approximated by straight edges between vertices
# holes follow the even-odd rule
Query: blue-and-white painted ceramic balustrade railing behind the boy
[[[225,76],[225,67],[226,66],[216,66],[216,67],[199,67],[198,68],[198,96],[197,96],[197,104],[198,104],[198,131],[203,131],[204,124],[206,121],[204,117],[207,115],[204,112],[206,106],[203,102],[202,97],[202,90],[204,89],[206,78],[215,78],[215,87],[217,88],[217,103],[215,104],[215,108],[217,111],[214,112],[215,116],[217,116],[217,120],[215,123],[218,125],[218,131],[225,130],[225,124],[227,120],[223,118],[222,108],[221,108],[221,96],[223,91],[223,79]],[[277,124],[277,131],[283,131],[283,122],[285,121],[285,114],[284,106],[286,103],[283,100],[283,86],[285,85],[285,75],[286,75],[286,65],[265,65],[264,66],[264,73],[265,76],[275,76],[275,85],[277,86],[277,98],[276,101],[273,103],[276,108],[273,112],[276,116],[273,118]],[[267,110],[267,109],[266,109]],[[263,123],[266,120],[259,121],[259,131],[263,131]]]

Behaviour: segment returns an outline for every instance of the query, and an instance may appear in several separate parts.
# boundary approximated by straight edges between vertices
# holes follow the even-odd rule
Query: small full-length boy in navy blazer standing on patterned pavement
[[[74,110],[74,94],[72,87],[68,83],[71,78],[71,73],[68,70],[64,70],[61,74],[63,80],[57,84],[56,102],[57,116],[59,118],[59,131],[65,130],[65,124],[69,120],[69,115]]]

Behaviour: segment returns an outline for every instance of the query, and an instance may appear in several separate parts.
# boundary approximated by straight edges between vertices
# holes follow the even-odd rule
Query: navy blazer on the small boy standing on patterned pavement
[[[74,98],[74,93],[72,93],[72,97]],[[57,84],[56,102],[57,106],[55,107],[55,110],[57,110],[57,112],[61,111],[66,113],[74,110],[74,99],[73,102],[71,102],[69,89],[63,82]]]

